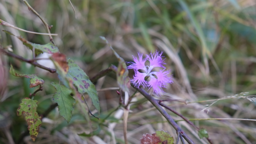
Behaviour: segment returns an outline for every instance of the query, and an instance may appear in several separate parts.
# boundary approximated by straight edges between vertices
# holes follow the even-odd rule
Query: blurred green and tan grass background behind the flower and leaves
[[[256,93],[256,10],[252,0],[28,0],[28,3],[52,25],[51,33],[60,52],[76,61],[89,77],[117,59],[99,36],[105,36],[116,52],[126,61],[132,61],[137,52],[149,54],[163,51],[166,67],[172,69],[174,83],[165,89],[160,99],[187,100],[188,104],[166,102],[188,119],[243,118],[256,119],[255,102],[244,99],[214,100],[241,92]],[[0,0],[0,18],[19,28],[46,33],[42,21],[23,1]],[[1,46],[12,45],[16,54],[31,58],[31,52],[16,37],[2,32],[6,29],[37,44],[49,43],[49,37],[17,31],[1,26]],[[36,89],[29,88],[29,79],[9,76],[10,63],[20,74],[38,74],[43,78],[44,91],[38,92],[39,114],[53,103],[52,81],[56,74],[1,55],[0,62],[0,143],[17,143],[26,132],[24,119],[16,116],[21,99]],[[49,62],[43,63],[51,67]],[[133,76],[133,71],[129,74]],[[40,128],[35,143],[124,143],[124,126],[119,106],[115,74],[110,73],[95,83],[101,105],[100,120],[89,117],[79,100],[71,122],[54,109]],[[4,87],[7,87],[6,89]],[[5,91],[6,90],[6,91]],[[134,89],[131,88],[131,94]],[[148,91],[150,92],[150,91]],[[241,94],[243,96],[243,94]],[[142,134],[155,130],[168,131],[176,139],[176,131],[163,116],[140,94],[136,93],[128,117],[127,137],[130,143],[139,143]],[[88,97],[86,97],[88,99]],[[90,99],[87,100],[92,112]],[[181,118],[170,112],[174,120]],[[256,143],[256,124],[239,120],[196,120],[205,128],[213,143]],[[178,124],[195,143],[196,130],[179,121]],[[81,134],[81,136],[79,136]],[[24,137],[30,143],[30,137]],[[20,141],[23,143],[23,141]]]

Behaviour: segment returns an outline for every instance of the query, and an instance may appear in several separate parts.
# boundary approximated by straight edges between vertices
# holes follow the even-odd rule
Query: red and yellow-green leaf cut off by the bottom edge
[[[173,137],[170,136],[168,132],[156,131],[156,133],[143,134],[140,139],[141,144],[174,144]]]

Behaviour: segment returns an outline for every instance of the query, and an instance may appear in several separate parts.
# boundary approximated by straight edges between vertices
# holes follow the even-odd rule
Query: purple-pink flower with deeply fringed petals
[[[131,63],[131,65],[127,67],[128,69],[134,69],[135,75],[131,80],[133,84],[138,84],[138,87],[142,85],[143,88],[153,88],[153,92],[157,96],[161,96],[164,93],[162,88],[165,87],[167,83],[172,83],[171,76],[168,76],[170,70],[165,71],[165,67],[163,66],[163,64],[166,63],[164,63],[165,59],[163,59],[163,56],[161,56],[162,53],[163,52],[159,53],[156,51],[153,54],[150,53],[150,55],[146,55],[146,58],[143,59],[142,54],[138,52],[139,59],[133,56],[134,62],[128,62]],[[150,63],[149,66],[145,65],[147,60]],[[152,71],[152,69],[155,67],[160,67],[163,69],[159,70],[158,72]],[[139,69],[141,72],[139,72]]]

